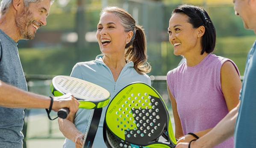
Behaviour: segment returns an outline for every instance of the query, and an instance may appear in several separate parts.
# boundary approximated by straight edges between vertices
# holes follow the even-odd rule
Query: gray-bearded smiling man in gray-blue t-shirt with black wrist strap
[[[27,92],[17,42],[31,40],[46,25],[54,0],[2,0],[0,3],[0,147],[22,148],[24,108],[68,107],[78,110],[71,94],[47,97]]]

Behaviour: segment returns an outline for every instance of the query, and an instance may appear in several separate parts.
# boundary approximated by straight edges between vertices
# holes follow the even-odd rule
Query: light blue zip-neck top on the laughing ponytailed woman
[[[109,67],[104,64],[102,57],[98,55],[94,61],[77,63],[72,70],[71,76],[97,84],[109,91],[111,99],[125,86],[132,82],[140,81],[151,85],[150,77],[146,74],[140,75],[133,68],[133,62],[128,62],[122,69],[118,79],[114,81]],[[100,124],[94,139],[94,148],[107,148],[103,140],[103,122],[107,107],[103,107]],[[85,133],[89,115],[92,110],[79,109],[76,113],[74,124],[76,128]],[[63,148],[75,148],[75,143],[65,139]]]

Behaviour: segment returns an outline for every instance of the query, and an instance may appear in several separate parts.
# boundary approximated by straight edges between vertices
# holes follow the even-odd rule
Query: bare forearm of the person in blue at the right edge
[[[212,148],[233,136],[239,105],[240,102],[211,131],[192,142],[190,148]],[[188,143],[181,142],[176,148],[188,148]]]

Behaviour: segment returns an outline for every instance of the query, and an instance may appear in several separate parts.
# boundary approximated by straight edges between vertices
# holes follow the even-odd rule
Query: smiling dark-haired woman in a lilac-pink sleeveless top
[[[216,32],[207,12],[181,5],[172,12],[169,41],[174,55],[186,61],[167,74],[178,142],[190,142],[209,132],[238,102],[241,80],[228,58],[212,54]],[[215,148],[233,148],[233,137]]]

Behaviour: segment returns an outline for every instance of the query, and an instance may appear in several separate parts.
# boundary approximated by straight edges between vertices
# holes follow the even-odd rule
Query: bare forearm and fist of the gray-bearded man
[[[53,97],[54,111],[68,107],[71,113],[78,110],[79,102],[71,94]],[[0,81],[0,106],[13,108],[49,108],[50,97],[21,90]]]

